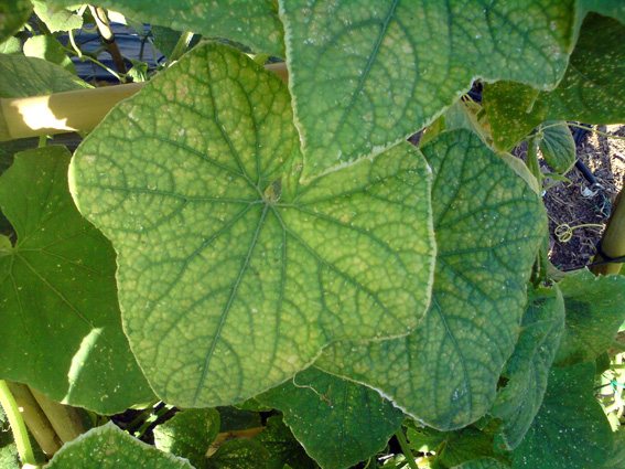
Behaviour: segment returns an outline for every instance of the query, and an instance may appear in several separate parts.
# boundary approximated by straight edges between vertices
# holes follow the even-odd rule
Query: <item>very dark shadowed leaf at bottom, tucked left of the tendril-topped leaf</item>
[[[258,434],[256,440],[269,452],[268,469],[283,469],[284,465],[298,469],[317,468],[289,427],[284,425],[280,415],[267,419],[267,428]]]

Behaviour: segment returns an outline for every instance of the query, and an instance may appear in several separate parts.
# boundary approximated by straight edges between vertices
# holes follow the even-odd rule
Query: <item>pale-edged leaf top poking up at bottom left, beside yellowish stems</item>
[[[54,455],[46,469],[193,469],[187,460],[131,437],[112,423],[96,427]]]

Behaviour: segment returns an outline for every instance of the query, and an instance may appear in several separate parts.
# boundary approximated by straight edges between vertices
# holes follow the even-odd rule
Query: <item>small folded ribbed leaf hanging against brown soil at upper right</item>
[[[558,125],[556,125],[558,124]],[[556,172],[564,174],[575,164],[575,140],[567,122],[545,122],[538,142],[542,158]]]

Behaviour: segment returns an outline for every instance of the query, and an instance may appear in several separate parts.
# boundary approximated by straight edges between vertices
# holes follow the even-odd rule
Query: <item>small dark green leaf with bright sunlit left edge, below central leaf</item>
[[[154,445],[161,451],[188,459],[197,468],[219,433],[219,413],[214,408],[190,408],[179,412],[154,428]]]

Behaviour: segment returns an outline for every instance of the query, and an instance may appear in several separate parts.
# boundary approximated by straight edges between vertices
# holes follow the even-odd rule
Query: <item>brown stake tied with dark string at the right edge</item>
[[[606,256],[616,259],[625,256],[625,195],[623,189],[616,196],[614,205],[612,206],[612,215],[607,221],[605,226],[605,232],[603,232],[603,237],[601,238],[601,251]],[[594,262],[610,260],[605,259],[601,254],[597,253]],[[594,275],[610,275],[618,274],[623,263],[614,262],[607,264],[601,264],[593,266],[591,271]]]

